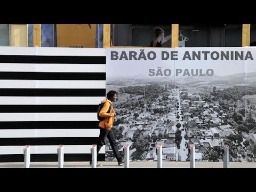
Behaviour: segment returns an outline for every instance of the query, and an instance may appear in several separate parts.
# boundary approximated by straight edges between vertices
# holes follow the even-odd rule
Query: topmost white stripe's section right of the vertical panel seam
[[[37,55],[57,56],[106,56],[103,48],[37,47]]]

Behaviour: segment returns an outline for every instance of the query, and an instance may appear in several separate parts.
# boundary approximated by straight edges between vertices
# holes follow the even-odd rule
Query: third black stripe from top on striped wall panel
[[[0,96],[105,97],[106,89],[0,89]]]

